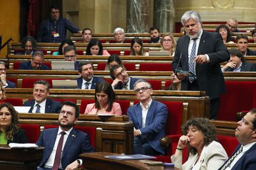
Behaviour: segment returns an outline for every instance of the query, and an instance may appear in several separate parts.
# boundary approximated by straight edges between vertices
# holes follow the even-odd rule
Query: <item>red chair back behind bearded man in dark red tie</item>
[[[45,129],[56,128],[56,127],[58,127],[58,125],[48,125],[48,126],[45,126]],[[74,128],[88,134],[90,144],[92,145],[93,148],[95,147],[96,127],[74,126]]]

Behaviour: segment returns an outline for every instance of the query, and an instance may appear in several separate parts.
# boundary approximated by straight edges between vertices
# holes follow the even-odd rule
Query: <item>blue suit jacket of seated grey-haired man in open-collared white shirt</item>
[[[134,127],[142,132],[151,145],[157,152],[164,155],[164,147],[160,145],[160,139],[165,136],[165,123],[168,115],[166,105],[156,100],[152,100],[150,108],[148,108],[145,127],[142,128],[142,108],[140,103],[129,107],[127,110],[129,121],[134,123]]]

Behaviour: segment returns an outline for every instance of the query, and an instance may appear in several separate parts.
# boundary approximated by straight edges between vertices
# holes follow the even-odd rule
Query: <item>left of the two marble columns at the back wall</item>
[[[144,33],[149,29],[150,0],[127,0],[127,33]]]

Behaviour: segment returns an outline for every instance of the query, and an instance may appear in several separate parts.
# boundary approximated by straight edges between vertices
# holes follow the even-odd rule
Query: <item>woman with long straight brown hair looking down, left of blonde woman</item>
[[[144,52],[143,50],[143,42],[140,38],[132,38],[130,42],[130,55],[145,55],[148,56],[148,52]]]

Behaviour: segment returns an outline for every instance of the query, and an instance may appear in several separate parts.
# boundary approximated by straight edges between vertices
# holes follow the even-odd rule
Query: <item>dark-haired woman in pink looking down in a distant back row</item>
[[[86,48],[86,55],[110,55],[108,51],[103,50],[103,46],[99,39],[93,38],[88,43]]]

